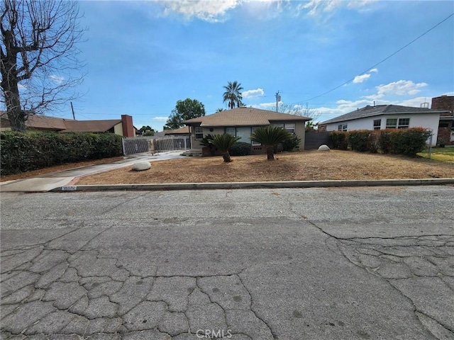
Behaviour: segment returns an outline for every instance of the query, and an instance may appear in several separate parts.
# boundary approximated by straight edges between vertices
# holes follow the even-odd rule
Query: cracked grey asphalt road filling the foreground
[[[453,339],[454,187],[1,193],[1,339]]]

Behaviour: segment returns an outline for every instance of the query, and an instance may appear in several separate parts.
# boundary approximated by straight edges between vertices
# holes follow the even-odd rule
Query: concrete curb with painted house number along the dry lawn
[[[223,182],[223,183],[157,183],[114,184],[92,186],[60,186],[51,191],[170,191],[246,188],[328,188],[355,186],[438,186],[454,185],[454,179],[380,179],[372,181],[279,181],[279,182]]]

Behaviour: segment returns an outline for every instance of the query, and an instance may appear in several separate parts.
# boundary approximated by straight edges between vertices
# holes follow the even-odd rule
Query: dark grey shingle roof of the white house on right
[[[373,117],[375,115],[398,115],[403,113],[445,113],[449,112],[446,110],[432,110],[430,108],[414,108],[411,106],[399,106],[399,105],[377,105],[377,106],[365,106],[359,110],[345,113],[345,115],[339,115],[336,118],[325,120],[321,124],[338,123],[345,120],[354,120],[359,118]]]

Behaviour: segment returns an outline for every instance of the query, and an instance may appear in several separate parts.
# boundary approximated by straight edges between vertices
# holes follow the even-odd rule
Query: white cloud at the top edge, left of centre
[[[228,10],[238,6],[240,0],[179,0],[162,1],[161,3],[165,6],[165,14],[175,12],[188,19],[199,18],[204,21],[217,22],[221,21],[221,16]]]

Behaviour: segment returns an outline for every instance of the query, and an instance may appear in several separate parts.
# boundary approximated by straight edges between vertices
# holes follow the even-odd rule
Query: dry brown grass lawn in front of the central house
[[[231,163],[223,163],[222,157],[156,161],[147,171],[128,166],[83,177],[77,185],[454,178],[453,163],[339,150],[278,154],[274,162],[267,162],[266,155],[232,159]]]

